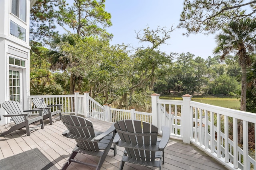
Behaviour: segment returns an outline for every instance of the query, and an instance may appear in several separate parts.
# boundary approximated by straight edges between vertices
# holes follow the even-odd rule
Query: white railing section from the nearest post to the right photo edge
[[[256,124],[256,114],[224,107],[190,102],[193,115],[191,141],[232,168],[256,169],[255,152],[249,154],[248,123]],[[242,145],[238,125],[242,121]],[[232,127],[232,129],[230,129]],[[254,129],[255,137],[255,129]],[[231,137],[231,139],[229,138]]]

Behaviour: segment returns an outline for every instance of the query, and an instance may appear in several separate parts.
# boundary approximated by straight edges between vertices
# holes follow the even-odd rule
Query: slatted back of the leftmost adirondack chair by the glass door
[[[23,114],[23,109],[20,104],[16,101],[5,101],[2,107],[6,110],[9,115]],[[11,116],[14,123],[17,125],[25,121],[24,116]]]

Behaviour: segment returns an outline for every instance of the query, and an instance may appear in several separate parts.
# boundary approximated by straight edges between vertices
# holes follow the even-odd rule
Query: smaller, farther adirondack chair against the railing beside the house
[[[60,119],[61,117],[61,104],[54,104],[54,105],[46,105],[46,103],[44,102],[44,99],[42,98],[33,98],[32,102],[34,103],[34,105],[36,106],[36,108],[44,108],[43,111],[43,118],[50,120],[50,125],[52,125],[52,120],[56,120],[56,119]],[[58,107],[58,109],[56,109],[56,111],[51,111],[52,107]],[[56,117],[54,119],[52,119],[53,115],[59,114],[60,117]]]

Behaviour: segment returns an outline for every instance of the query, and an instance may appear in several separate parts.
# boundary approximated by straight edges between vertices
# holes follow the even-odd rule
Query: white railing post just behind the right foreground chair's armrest
[[[159,99],[160,94],[152,94],[151,95],[151,107],[152,107],[152,124],[155,125],[156,127],[158,127],[158,131],[161,131],[161,127],[159,127],[159,109],[158,109],[158,104],[157,104],[157,100]]]

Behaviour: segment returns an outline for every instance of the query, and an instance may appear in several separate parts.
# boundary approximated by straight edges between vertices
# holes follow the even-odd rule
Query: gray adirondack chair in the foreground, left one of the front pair
[[[115,134],[114,125],[102,133],[94,131],[92,122],[85,119],[84,117],[76,115],[62,115],[60,119],[68,129],[62,133],[62,135],[71,139],[75,139],[77,143],[77,146],[73,149],[68,161],[62,167],[62,170],[66,170],[71,162],[76,162],[86,166],[93,166],[96,167],[96,170],[99,170],[110,149],[114,149],[114,156],[116,155],[116,146],[111,148]],[[100,157],[100,160],[97,165],[89,164],[88,162],[82,162],[81,160],[75,160],[74,158],[78,152],[82,154],[98,156]]]

